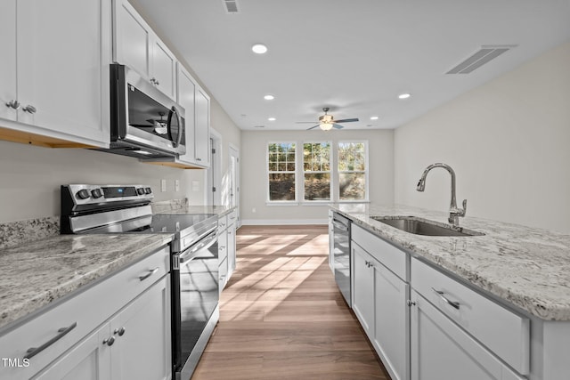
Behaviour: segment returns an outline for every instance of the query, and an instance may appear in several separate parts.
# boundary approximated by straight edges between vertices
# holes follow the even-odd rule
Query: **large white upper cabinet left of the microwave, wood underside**
[[[2,138],[108,146],[110,4],[6,0],[0,6]]]

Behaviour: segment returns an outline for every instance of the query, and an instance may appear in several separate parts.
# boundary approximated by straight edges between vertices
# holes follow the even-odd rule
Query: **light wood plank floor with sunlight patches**
[[[327,226],[243,226],[192,380],[387,379],[334,282]]]

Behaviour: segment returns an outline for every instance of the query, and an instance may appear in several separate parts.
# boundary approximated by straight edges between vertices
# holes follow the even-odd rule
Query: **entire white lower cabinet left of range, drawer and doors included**
[[[0,334],[0,380],[166,380],[172,375],[168,247]],[[28,359],[25,359],[28,358]]]

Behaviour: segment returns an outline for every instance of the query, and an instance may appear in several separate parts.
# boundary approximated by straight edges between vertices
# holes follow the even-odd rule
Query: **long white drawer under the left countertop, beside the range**
[[[51,309],[0,337],[0,357],[20,360],[22,366],[0,368],[0,378],[28,379],[36,374],[168,270],[169,249],[165,247],[94,286],[87,285],[77,295],[54,304]],[[141,279],[145,276],[148,277]],[[45,349],[29,358],[28,367],[25,367],[23,358],[28,349],[42,345]]]

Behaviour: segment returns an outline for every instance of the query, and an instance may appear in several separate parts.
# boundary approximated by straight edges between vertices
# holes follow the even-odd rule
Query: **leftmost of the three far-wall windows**
[[[295,142],[270,142],[267,150],[269,200],[295,201]]]

